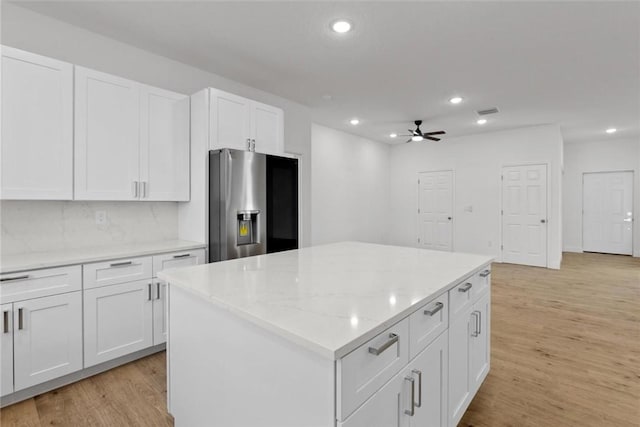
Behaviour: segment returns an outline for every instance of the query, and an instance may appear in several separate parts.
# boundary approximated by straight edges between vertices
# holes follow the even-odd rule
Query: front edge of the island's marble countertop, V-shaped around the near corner
[[[367,342],[368,340],[370,340],[371,338],[375,337],[376,335],[380,334],[381,332],[383,332],[384,330],[390,328],[391,326],[395,325],[396,323],[398,323],[399,321],[401,321],[402,319],[408,317],[409,315],[411,315],[412,313],[414,313],[415,311],[417,311],[422,305],[429,303],[430,301],[434,300],[435,298],[437,298],[439,295],[443,294],[444,292],[448,292],[450,289],[454,288],[455,286],[457,286],[460,281],[462,281],[462,279],[464,279],[465,277],[468,277],[470,275],[476,274],[477,272],[479,272],[480,270],[482,270],[485,266],[490,265],[491,263],[494,262],[494,258],[493,257],[487,257],[488,260],[479,264],[476,268],[466,272],[465,274],[461,275],[460,277],[456,278],[455,280],[451,281],[451,283],[448,283],[447,285],[442,286],[441,288],[439,288],[437,291],[432,292],[431,294],[429,294],[428,296],[418,300],[417,302],[413,303],[412,305],[410,305],[409,307],[407,307],[405,310],[401,311],[400,313],[395,314],[394,316],[390,317],[389,319],[383,321],[382,323],[380,323],[379,325],[371,328],[370,330],[368,330],[367,332],[363,333],[362,335],[360,335],[357,338],[354,338],[353,340],[351,340],[350,342],[348,342],[347,344],[343,345],[342,347],[339,347],[337,349],[330,349],[330,348],[326,348],[323,347],[315,342],[309,341],[308,339],[294,334],[286,329],[282,329],[281,327],[271,323],[271,322],[267,322],[259,317],[256,317],[250,313],[247,313],[246,311],[236,308],[233,305],[227,304],[224,301],[221,301],[217,298],[212,298],[210,296],[204,295],[200,292],[197,292],[196,290],[194,290],[193,288],[183,285],[180,283],[179,280],[173,280],[171,278],[171,269],[168,270],[164,270],[158,273],[158,277],[164,281],[166,281],[169,285],[174,284],[176,286],[178,286],[180,289],[182,289],[183,291],[194,295],[198,298],[201,298],[205,301],[208,301],[212,304],[214,304],[215,306],[217,306],[218,308],[222,309],[222,310],[227,310],[235,315],[237,315],[240,318],[243,318],[253,324],[255,324],[256,326],[265,329],[267,331],[270,331],[284,339],[287,339],[295,344],[298,344],[302,347],[305,347],[306,349],[322,356],[325,358],[328,358],[330,360],[339,360],[341,358],[343,358],[344,356],[346,356],[347,354],[351,353],[353,350],[357,349],[358,347],[360,347],[362,344],[364,344],[365,342]]]

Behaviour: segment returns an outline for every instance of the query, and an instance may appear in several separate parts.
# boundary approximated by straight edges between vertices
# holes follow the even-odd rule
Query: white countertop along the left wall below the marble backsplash
[[[0,273],[14,273],[39,268],[85,264],[88,262],[153,255],[163,252],[187,251],[204,247],[206,247],[204,243],[191,242],[188,240],[164,240],[90,248],[60,249],[46,252],[29,252],[11,255],[2,254],[0,257]]]

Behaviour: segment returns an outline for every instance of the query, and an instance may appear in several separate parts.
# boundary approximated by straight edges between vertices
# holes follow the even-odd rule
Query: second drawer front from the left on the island
[[[413,359],[449,327],[447,293],[423,305],[409,316],[409,359]]]

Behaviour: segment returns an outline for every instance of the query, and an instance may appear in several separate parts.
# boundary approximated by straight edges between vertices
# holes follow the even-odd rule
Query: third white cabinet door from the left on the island
[[[469,374],[471,311],[467,308],[449,322],[449,425],[456,426],[467,410],[472,383]]]

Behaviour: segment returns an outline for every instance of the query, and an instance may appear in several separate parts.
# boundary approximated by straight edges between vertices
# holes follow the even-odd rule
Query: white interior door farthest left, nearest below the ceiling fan
[[[453,171],[418,175],[418,246],[453,249]]]

